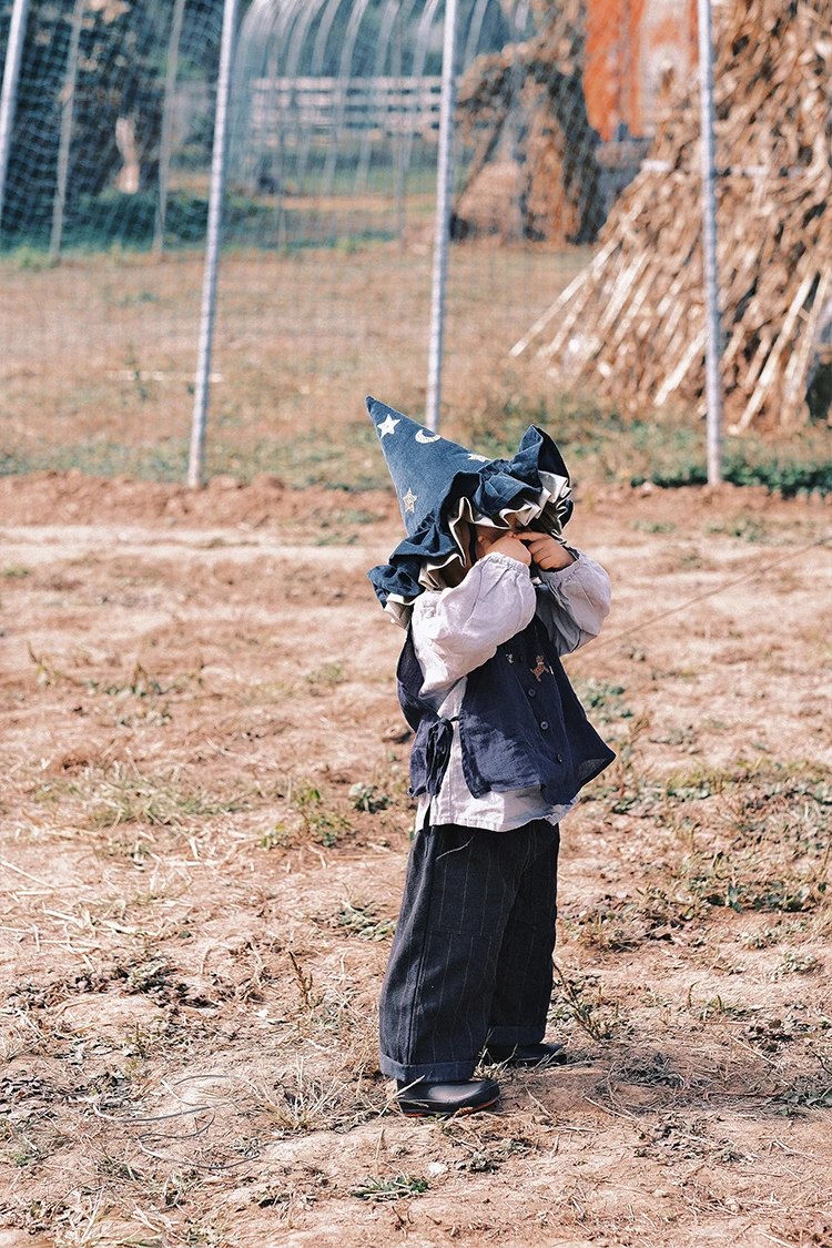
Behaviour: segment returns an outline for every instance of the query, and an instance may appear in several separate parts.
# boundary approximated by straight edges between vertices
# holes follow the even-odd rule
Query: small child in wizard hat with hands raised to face
[[[566,547],[569,474],[534,426],[489,461],[368,398],[408,537],[370,580],[407,629],[398,665],[419,799],[380,1000],[380,1068],[407,1114],[494,1104],[480,1060],[563,1062],[543,1043],[559,821],[614,755],[559,655],[600,631],[610,582]]]

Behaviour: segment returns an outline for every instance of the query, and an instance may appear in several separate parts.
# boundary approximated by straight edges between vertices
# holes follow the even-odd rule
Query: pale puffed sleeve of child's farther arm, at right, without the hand
[[[610,578],[600,563],[569,548],[568,568],[540,572],[538,617],[558,650],[571,654],[601,631],[610,614]]]

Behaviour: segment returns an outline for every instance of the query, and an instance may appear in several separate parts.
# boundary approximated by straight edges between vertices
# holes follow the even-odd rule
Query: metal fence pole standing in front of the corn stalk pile
[[[720,285],[716,258],[716,145],[713,140],[713,36],[711,0],[697,0],[699,90],[702,157],[702,251],[705,280],[705,407],[707,483],[722,479],[722,387],[720,381]]]

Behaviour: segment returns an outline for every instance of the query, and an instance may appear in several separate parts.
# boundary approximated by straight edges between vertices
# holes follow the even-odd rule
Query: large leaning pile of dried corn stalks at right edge
[[[717,32],[722,382],[732,432],[806,418],[832,293],[832,0],[735,0]],[[631,412],[704,411],[699,96],[667,106],[601,250],[514,348]]]

